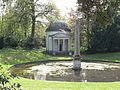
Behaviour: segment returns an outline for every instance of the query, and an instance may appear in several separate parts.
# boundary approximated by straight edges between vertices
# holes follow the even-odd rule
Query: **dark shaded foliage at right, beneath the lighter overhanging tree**
[[[90,48],[88,52],[120,51],[120,16],[114,18],[114,23],[104,30],[96,24],[90,34]]]

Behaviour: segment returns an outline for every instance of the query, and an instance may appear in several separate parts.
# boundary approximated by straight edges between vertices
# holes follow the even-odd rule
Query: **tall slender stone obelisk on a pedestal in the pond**
[[[80,31],[79,31],[79,20],[75,22],[75,33],[74,33],[74,59],[73,59],[73,69],[80,70],[81,68],[81,57],[80,57]]]

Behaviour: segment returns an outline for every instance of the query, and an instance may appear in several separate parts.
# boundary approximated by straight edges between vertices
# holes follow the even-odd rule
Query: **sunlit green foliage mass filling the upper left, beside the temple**
[[[0,36],[12,37],[19,46],[24,46],[24,42],[29,41],[26,38],[29,37],[33,38],[33,42],[36,41],[34,40],[36,37],[44,40],[49,21],[60,19],[59,10],[53,2],[43,3],[38,0],[2,1],[4,2],[0,3],[4,5],[4,10],[1,12],[3,14],[0,20]],[[40,41],[40,45],[45,46],[45,42]]]

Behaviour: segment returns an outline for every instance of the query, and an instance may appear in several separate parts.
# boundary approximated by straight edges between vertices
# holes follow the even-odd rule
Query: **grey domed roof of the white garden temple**
[[[46,29],[46,31],[59,31],[59,30],[70,31],[67,23],[63,21],[53,21],[50,23],[49,27]]]

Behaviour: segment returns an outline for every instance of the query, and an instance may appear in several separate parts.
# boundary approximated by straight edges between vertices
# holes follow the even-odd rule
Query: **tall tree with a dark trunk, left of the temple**
[[[15,12],[19,14],[18,16],[24,18],[24,16],[30,17],[31,22],[31,35],[30,37],[34,39],[35,35],[35,24],[37,18],[47,17],[47,14],[53,13],[53,7],[50,3],[41,4],[34,0],[17,0]]]

